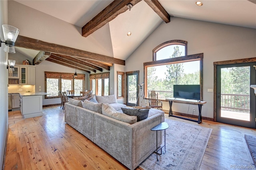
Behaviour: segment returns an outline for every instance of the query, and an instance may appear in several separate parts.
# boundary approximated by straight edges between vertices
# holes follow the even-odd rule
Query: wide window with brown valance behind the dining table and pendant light
[[[46,98],[58,97],[58,91],[75,90],[78,94],[84,91],[84,74],[78,74],[74,77],[73,73],[44,72]]]

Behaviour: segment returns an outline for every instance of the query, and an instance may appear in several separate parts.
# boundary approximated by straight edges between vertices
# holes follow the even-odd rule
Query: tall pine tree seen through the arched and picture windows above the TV
[[[180,57],[182,52],[180,52],[179,46],[176,45],[174,47],[174,52],[170,58]],[[178,85],[181,83],[182,76],[183,76],[183,63],[175,63],[175,64],[168,64],[166,79],[164,80],[164,85],[168,87],[168,89],[173,89],[173,85]]]

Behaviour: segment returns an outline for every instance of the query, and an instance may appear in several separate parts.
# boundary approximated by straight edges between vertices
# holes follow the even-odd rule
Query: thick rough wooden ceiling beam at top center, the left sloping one
[[[127,4],[136,5],[141,0],[114,0],[98,15],[82,27],[82,36],[87,37],[108,22],[114,20],[119,14],[128,10]]]

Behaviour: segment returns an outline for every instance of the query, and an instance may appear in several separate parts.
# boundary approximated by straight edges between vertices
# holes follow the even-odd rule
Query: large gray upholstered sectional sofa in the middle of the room
[[[102,102],[100,99],[98,101]],[[111,103],[109,99],[104,103],[108,103],[108,101]],[[94,107],[92,108],[94,111],[86,109],[84,108],[87,105],[85,103],[88,103],[88,101],[84,101],[83,107],[81,107],[81,103],[65,103],[65,122],[108,152],[127,168],[134,170],[154,152],[156,148],[156,132],[150,129],[164,121],[163,111],[150,109],[148,118],[134,124],[129,124],[103,115],[100,113],[101,110],[95,112]],[[126,107],[123,104],[118,106],[117,102],[110,105],[116,109]],[[122,110],[119,111],[122,112]],[[161,135],[162,133],[158,133],[158,138],[162,139]],[[158,146],[161,143],[162,140],[159,141]]]

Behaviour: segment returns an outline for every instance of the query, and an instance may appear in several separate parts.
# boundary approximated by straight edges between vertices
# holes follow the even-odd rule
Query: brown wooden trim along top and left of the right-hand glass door
[[[214,66],[214,87],[213,87],[213,121],[217,121],[217,65],[226,65],[226,64],[236,64],[236,63],[251,63],[256,62],[256,57],[254,58],[246,58],[246,59],[235,59],[235,60],[227,60],[227,61],[217,61],[213,62]]]

